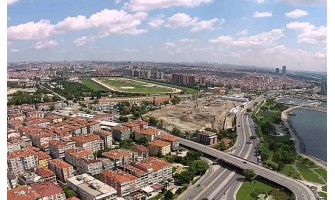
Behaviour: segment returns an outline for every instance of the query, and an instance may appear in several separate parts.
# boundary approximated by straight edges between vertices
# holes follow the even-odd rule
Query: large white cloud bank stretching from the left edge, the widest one
[[[11,26],[7,29],[7,35],[8,40],[40,40],[54,34],[85,29],[97,29],[99,37],[111,34],[137,35],[146,32],[139,28],[146,17],[147,13],[144,12],[129,14],[123,10],[104,9],[89,18],[78,15],[67,17],[56,24],[50,24],[49,20],[40,20],[37,23]]]

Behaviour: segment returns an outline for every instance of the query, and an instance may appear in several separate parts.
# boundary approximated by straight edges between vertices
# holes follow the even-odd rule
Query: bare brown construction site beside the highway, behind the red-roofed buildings
[[[195,132],[205,128],[229,129],[232,128],[234,119],[231,111],[239,105],[239,102],[207,96],[187,99],[177,105],[167,105],[145,114],[144,117],[151,116],[162,120],[163,127],[170,131],[174,127],[182,132]]]

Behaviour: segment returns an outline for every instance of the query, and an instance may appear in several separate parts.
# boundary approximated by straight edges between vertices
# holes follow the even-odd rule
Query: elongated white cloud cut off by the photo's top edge
[[[211,2],[212,0],[130,0],[126,6],[132,11],[149,11],[174,6],[193,8]]]

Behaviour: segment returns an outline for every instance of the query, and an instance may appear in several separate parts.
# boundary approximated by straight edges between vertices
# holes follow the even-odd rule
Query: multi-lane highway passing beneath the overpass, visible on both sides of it
[[[247,144],[249,137],[253,135],[250,129],[249,116],[244,115],[247,108],[251,108],[256,101],[260,101],[262,97],[256,98],[254,101],[249,102],[245,107],[237,113],[237,133],[238,138],[236,141],[237,149],[233,152],[234,155],[255,161],[256,158],[253,156],[253,144]],[[239,188],[240,178],[233,169],[225,169],[220,167],[214,174],[208,174],[206,179],[200,180],[197,183],[197,187],[190,188],[181,198],[186,199],[222,199],[225,197],[226,192],[230,188]],[[229,193],[227,194],[229,195]]]

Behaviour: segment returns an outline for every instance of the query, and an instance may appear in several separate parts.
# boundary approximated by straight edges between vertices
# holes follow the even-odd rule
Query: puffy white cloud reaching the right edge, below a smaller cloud
[[[298,43],[318,44],[327,43],[327,27],[315,27],[309,22],[290,22],[286,24],[286,28],[299,31]]]

